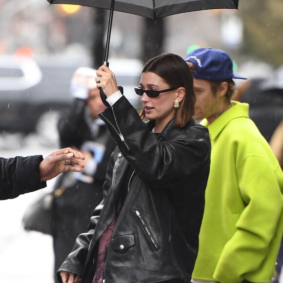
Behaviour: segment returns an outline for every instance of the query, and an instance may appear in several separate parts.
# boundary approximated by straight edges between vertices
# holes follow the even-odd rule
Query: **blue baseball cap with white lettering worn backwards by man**
[[[247,79],[233,73],[232,59],[222,50],[198,48],[188,53],[185,61],[190,61],[195,65],[196,72],[193,72],[195,79],[207,81]]]

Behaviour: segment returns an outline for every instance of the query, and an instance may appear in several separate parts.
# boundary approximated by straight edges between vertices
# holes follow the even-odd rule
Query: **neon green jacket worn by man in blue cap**
[[[270,282],[283,235],[283,172],[248,104],[232,103],[208,125],[211,165],[192,278]]]

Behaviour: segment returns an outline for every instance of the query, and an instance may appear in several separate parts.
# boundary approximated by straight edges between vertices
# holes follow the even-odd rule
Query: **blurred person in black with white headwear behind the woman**
[[[106,166],[116,145],[104,122],[98,119],[105,106],[95,77],[96,70],[89,67],[75,71],[70,85],[73,101],[58,122],[61,145],[80,149],[85,167],[79,173],[62,175],[54,186],[55,273],[77,236],[86,231],[94,208],[103,198]]]

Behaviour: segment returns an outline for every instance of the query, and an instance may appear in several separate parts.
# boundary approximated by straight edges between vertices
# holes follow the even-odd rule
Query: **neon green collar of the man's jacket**
[[[204,119],[201,123],[204,126],[207,126],[209,130],[209,135],[211,140],[215,140],[218,135],[222,132],[225,126],[233,119],[237,119],[240,117],[249,118],[249,104],[241,103],[238,101],[231,101],[233,107],[225,111],[221,114],[215,121],[213,121],[210,125],[207,124],[206,119]]]

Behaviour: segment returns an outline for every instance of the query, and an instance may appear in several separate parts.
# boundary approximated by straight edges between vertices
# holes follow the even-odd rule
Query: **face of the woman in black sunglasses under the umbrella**
[[[163,90],[172,87],[152,72],[142,73],[140,86],[144,90]],[[143,93],[141,101],[144,106],[145,117],[148,120],[156,121],[156,129],[159,127],[163,129],[174,117],[176,109],[173,104],[177,96],[178,89],[161,93],[158,97],[148,97],[146,93]]]

